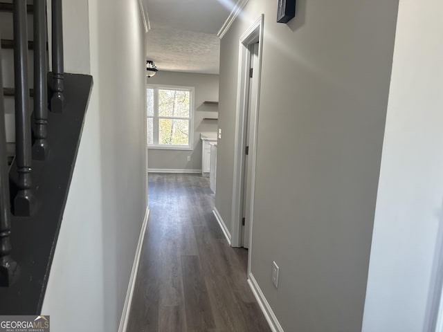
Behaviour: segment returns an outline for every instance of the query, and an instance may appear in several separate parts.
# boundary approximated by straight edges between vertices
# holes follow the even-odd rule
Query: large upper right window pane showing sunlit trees
[[[189,118],[189,91],[159,89],[159,116]]]

